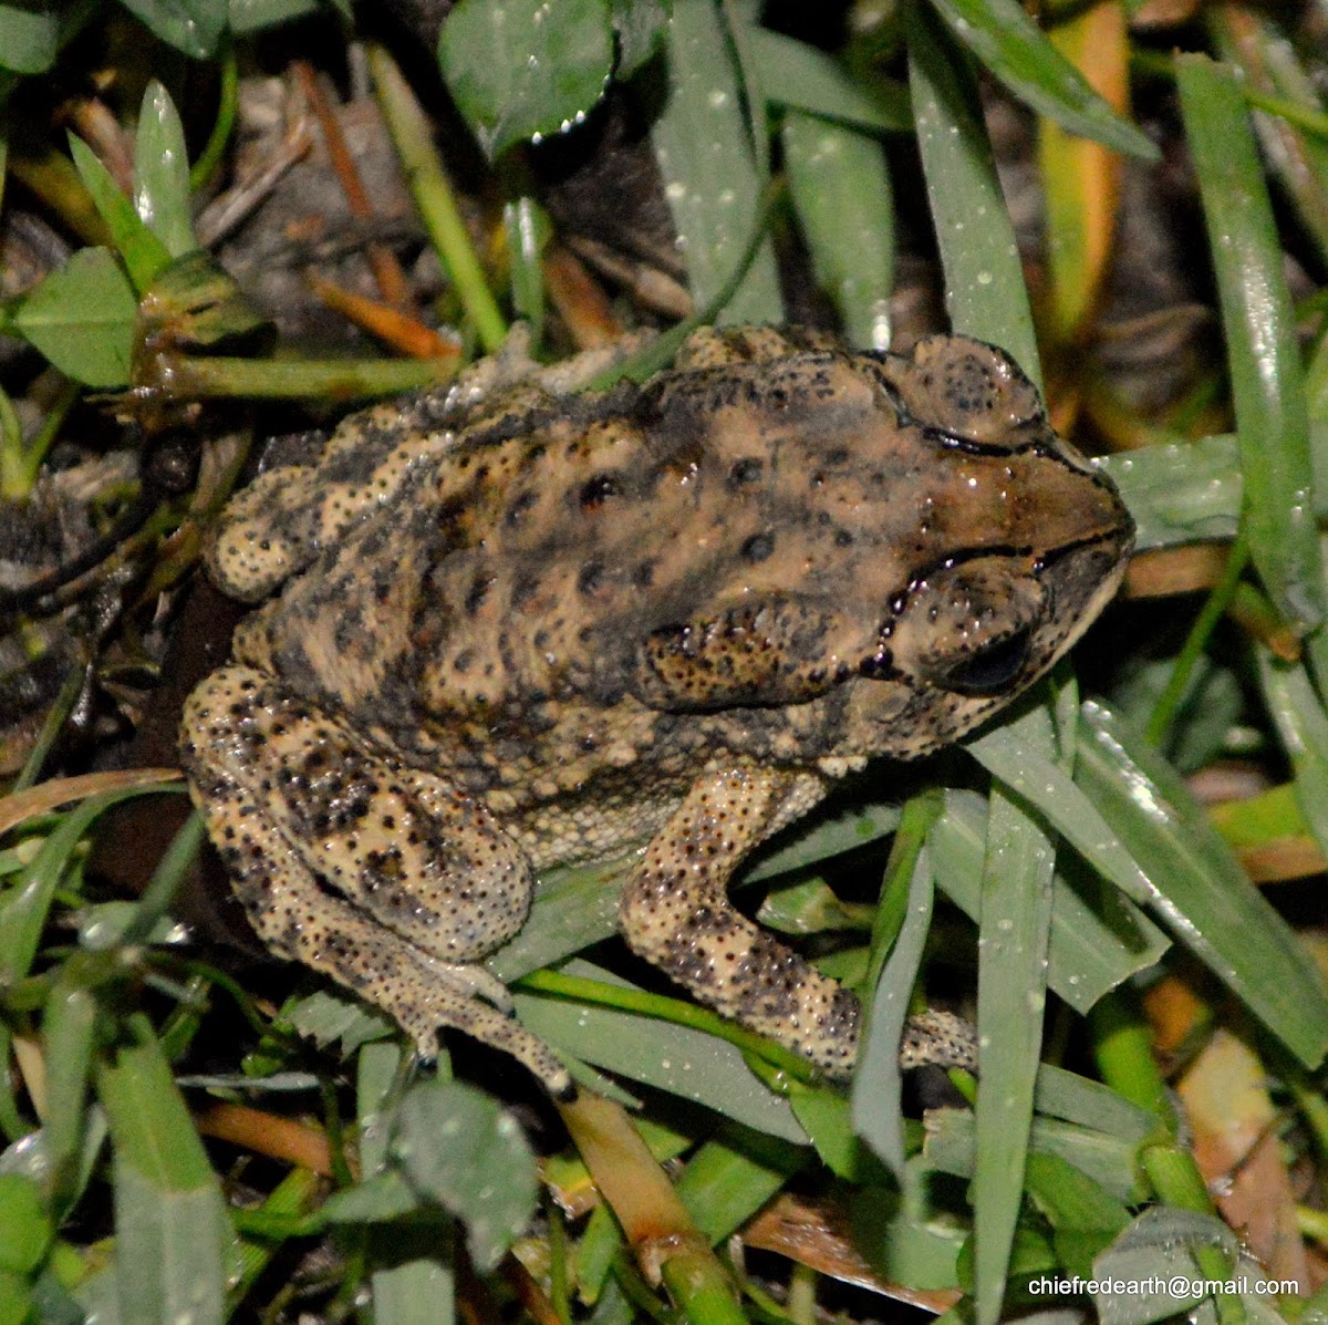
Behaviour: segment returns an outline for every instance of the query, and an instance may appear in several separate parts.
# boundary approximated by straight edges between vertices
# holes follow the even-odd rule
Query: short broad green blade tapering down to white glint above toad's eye
[[[888,349],[895,214],[880,143],[798,110],[785,114],[781,141],[817,283],[850,344]]]

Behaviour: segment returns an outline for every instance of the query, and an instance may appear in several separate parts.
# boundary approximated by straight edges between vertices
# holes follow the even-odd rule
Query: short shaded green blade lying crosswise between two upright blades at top
[[[838,119],[874,133],[912,129],[908,89],[880,74],[855,78],[835,58],[805,41],[753,28],[752,58],[776,105]]]

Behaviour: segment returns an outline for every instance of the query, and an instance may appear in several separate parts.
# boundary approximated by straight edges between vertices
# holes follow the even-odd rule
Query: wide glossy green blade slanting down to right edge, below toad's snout
[[[1181,775],[1109,708],[1082,710],[1077,782],[1151,880],[1151,911],[1305,1066],[1328,1052],[1328,992]]]

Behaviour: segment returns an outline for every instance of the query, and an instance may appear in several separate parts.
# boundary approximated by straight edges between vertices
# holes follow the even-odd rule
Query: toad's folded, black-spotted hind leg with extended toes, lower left
[[[368,753],[248,666],[194,690],[181,753],[272,951],[384,1009],[426,1055],[453,1026],[518,1058],[550,1094],[571,1094],[548,1048],[490,1005],[507,996],[479,961],[521,928],[533,878],[483,807]]]

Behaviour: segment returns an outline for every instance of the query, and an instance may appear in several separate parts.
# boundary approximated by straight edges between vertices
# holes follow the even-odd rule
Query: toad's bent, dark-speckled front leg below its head
[[[814,774],[744,761],[708,771],[652,839],[619,917],[632,949],[703,1002],[847,1077],[858,1052],[858,1000],[725,895],[746,852],[822,791]]]

